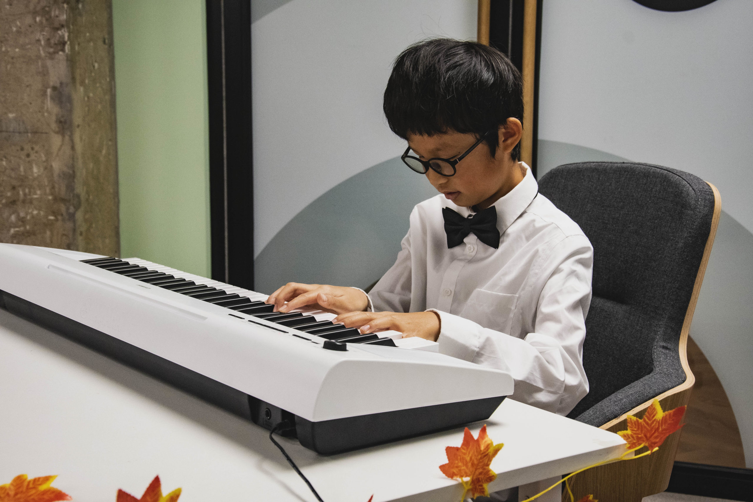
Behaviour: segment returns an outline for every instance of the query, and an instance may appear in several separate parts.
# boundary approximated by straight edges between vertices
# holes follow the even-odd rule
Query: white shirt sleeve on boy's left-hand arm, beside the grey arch
[[[409,312],[411,295],[410,233],[400,242],[398,259],[368,294],[373,312]]]

